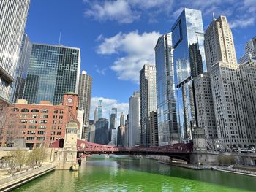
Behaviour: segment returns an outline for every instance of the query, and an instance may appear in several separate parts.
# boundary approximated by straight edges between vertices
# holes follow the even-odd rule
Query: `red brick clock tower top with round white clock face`
[[[73,92],[64,93],[62,104],[64,106],[70,107],[70,110],[72,110],[72,113],[75,115],[75,118],[77,118],[77,115],[78,115],[78,94],[73,93]]]

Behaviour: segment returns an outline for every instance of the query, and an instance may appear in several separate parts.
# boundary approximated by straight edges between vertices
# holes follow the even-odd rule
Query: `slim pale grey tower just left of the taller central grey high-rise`
[[[129,97],[128,145],[140,145],[140,91]]]

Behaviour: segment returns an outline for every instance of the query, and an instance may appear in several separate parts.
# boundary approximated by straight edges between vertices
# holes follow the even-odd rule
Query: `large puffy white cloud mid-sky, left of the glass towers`
[[[132,31],[129,34],[118,33],[113,37],[102,39],[97,47],[101,55],[120,54],[110,69],[117,73],[120,80],[138,82],[139,72],[144,64],[154,64],[154,46],[161,36],[159,32],[138,34]]]

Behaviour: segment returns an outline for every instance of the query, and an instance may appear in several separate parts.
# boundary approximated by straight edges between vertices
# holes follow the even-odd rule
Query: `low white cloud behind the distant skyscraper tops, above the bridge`
[[[94,110],[98,105],[98,101],[102,100],[102,118],[108,118],[110,116],[110,110],[112,108],[117,108],[117,125],[119,126],[119,120],[121,112],[124,112],[124,115],[128,114],[129,104],[128,103],[118,103],[116,99],[108,99],[104,97],[93,97],[91,98],[91,111],[90,111],[90,120],[94,119]],[[126,116],[125,116],[126,117]]]

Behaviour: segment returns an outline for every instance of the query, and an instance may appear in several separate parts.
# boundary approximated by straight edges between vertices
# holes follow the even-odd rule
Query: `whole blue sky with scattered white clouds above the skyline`
[[[200,9],[203,26],[226,15],[237,58],[256,35],[256,0],[31,0],[26,34],[31,42],[79,47],[81,70],[93,77],[91,119],[103,100],[103,117],[112,107],[127,115],[129,96],[139,90],[139,72],[154,64],[158,37],[184,7]]]

